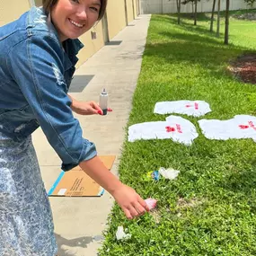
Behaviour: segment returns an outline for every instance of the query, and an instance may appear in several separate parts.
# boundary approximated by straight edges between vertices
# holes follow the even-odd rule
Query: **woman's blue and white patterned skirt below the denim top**
[[[49,199],[31,137],[14,142],[0,132],[0,255],[56,254]]]

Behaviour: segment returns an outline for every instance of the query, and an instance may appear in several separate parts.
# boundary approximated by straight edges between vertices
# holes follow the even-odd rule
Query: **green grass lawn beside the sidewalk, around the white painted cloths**
[[[212,109],[207,119],[256,113],[255,85],[226,71],[229,61],[255,51],[255,22],[231,18],[229,46],[223,44],[224,20],[221,25],[216,39],[206,14],[197,27],[184,17],[178,26],[175,15],[153,15],[128,126],[164,120],[167,115],[153,113],[161,101],[206,101]],[[256,144],[208,140],[199,119],[183,117],[199,131],[192,146],[125,142],[120,179],[144,198],[158,199],[158,208],[128,221],[115,206],[100,255],[256,255]],[[146,173],[161,166],[180,170],[178,179],[146,181]],[[131,240],[115,239],[118,225],[128,228]]]

